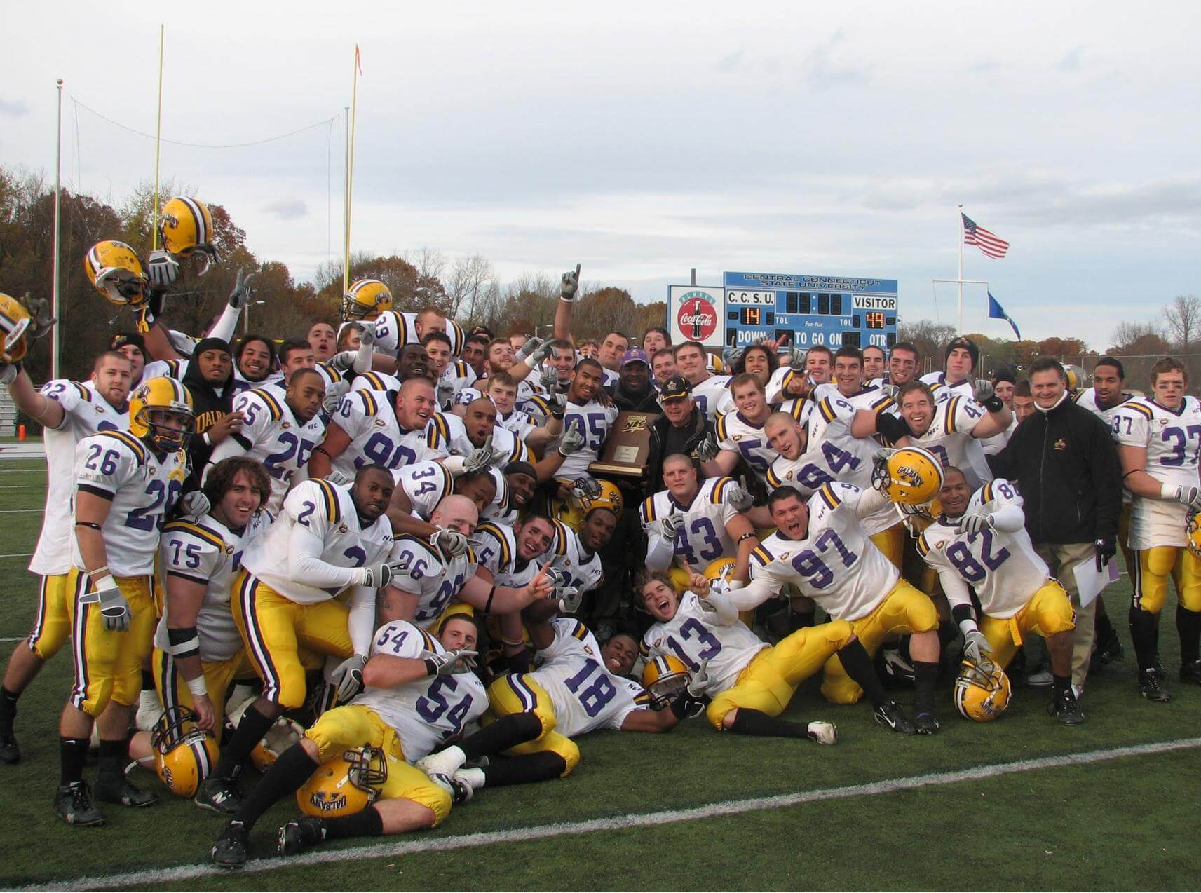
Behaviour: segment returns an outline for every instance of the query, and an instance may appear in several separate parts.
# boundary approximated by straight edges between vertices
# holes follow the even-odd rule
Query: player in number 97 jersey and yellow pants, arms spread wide
[[[926,593],[901,579],[896,565],[876,547],[860,522],[886,501],[877,490],[841,483],[825,484],[808,503],[793,487],[773,490],[767,508],[777,531],[751,553],[751,582],[733,589],[730,598],[739,610],[749,610],[785,583],[791,585],[831,618],[847,621],[866,655],[873,655],[892,633],[912,634],[909,649],[918,685],[915,723],[888,700],[874,671],[868,673],[854,659],[854,673],[847,660],[826,664],[821,694],[835,703],[854,703],[866,691],[878,723],[902,733],[933,735],[939,729],[934,714],[938,611]],[[862,658],[858,652],[855,657]]]

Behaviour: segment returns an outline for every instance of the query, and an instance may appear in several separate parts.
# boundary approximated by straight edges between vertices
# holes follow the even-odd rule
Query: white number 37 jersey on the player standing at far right
[[[1148,397],[1127,401],[1112,416],[1113,439],[1119,446],[1147,450],[1143,471],[1161,484],[1185,487],[1201,485],[1197,453],[1201,451],[1201,402],[1185,396],[1178,412]],[[1130,549],[1184,546],[1188,507],[1175,499],[1134,496],[1130,509]]]

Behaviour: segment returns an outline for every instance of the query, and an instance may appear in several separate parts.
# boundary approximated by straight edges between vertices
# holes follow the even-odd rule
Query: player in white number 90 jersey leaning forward
[[[448,454],[446,430],[434,419],[434,388],[424,377],[410,378],[400,386],[395,409],[381,396],[357,390],[342,398],[325,426],[325,439],[309,459],[309,477],[324,478],[334,469],[351,478],[365,465],[390,471]]]

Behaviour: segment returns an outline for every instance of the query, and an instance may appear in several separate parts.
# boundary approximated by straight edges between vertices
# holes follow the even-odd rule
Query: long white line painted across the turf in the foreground
[[[563,837],[567,834],[590,834],[598,831],[626,831],[628,828],[646,828],[657,825],[674,825],[676,822],[689,822],[700,819],[713,819],[717,816],[741,815],[764,809],[779,809],[782,807],[795,807],[802,803],[819,803],[821,801],[847,799],[849,797],[871,797],[880,793],[894,793],[896,791],[912,791],[920,787],[932,787],[936,785],[952,785],[960,781],[979,781],[998,775],[1010,775],[1018,772],[1033,772],[1035,769],[1050,769],[1059,766],[1080,766],[1082,763],[1104,762],[1106,760],[1119,760],[1127,756],[1145,756],[1147,754],[1165,754],[1172,750],[1187,750],[1201,747],[1201,738],[1182,738],[1179,741],[1155,742],[1151,744],[1135,744],[1125,748],[1110,748],[1106,750],[1088,750],[1080,754],[1063,754],[1059,756],[1044,756],[1036,760],[1020,760],[1017,762],[991,763],[987,766],[975,766],[956,772],[932,772],[924,775],[908,775],[906,778],[885,779],[883,781],[871,781],[862,785],[846,785],[842,787],[824,787],[815,791],[797,791],[796,793],[783,793],[776,797],[754,797],[751,799],[722,801],[710,803],[705,807],[693,809],[669,809],[659,813],[644,813],[640,815],[615,816],[613,819],[592,819],[581,822],[560,822],[555,825],[531,825],[521,828],[508,828],[506,831],[480,832],[477,834],[459,834],[444,838],[408,838],[386,844],[371,846],[354,846],[346,850],[316,850],[303,856],[291,858],[262,858],[253,859],[246,864],[243,873],[270,871],[279,868],[291,868],[295,865],[321,865],[337,862],[362,859],[412,856],[422,852],[441,852],[447,850],[464,850],[472,846],[489,846],[491,844],[524,843],[526,840],[542,840],[546,838]],[[225,875],[228,871],[215,865],[179,865],[177,868],[149,868],[142,871],[126,871],[114,875],[97,875],[91,877],[76,877],[71,881],[54,882],[48,885],[35,885],[22,887],[20,889],[96,889],[97,887],[115,887],[125,889],[133,885],[163,885],[174,881],[186,881],[192,877],[205,875]]]

